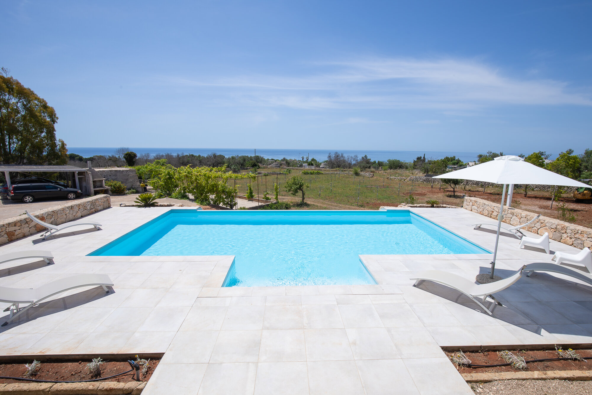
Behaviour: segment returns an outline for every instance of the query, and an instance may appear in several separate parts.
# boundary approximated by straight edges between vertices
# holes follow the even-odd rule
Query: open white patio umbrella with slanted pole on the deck
[[[501,220],[504,218],[504,198],[506,197],[506,184],[542,184],[561,185],[575,187],[590,187],[580,181],[572,180],[542,167],[525,162],[523,158],[514,155],[497,157],[493,161],[481,163],[461,170],[435,176],[436,179],[460,179],[485,181],[494,184],[504,184],[501,193],[500,214],[497,216],[496,247],[493,250],[493,261],[491,261],[491,275],[496,269],[497,244],[500,240]]]

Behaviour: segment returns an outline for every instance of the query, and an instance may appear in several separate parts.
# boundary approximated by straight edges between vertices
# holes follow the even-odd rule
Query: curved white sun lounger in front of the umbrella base
[[[496,303],[500,306],[503,306],[503,304],[501,304],[500,301],[493,297],[493,294],[495,294],[496,292],[503,291],[504,289],[512,285],[514,282],[518,281],[520,279],[520,276],[522,276],[522,270],[525,267],[526,266],[522,266],[520,270],[518,270],[516,273],[514,273],[508,278],[504,278],[500,281],[491,282],[488,284],[475,284],[474,282],[464,277],[455,275],[454,273],[442,272],[440,270],[426,270],[424,272],[420,272],[417,274],[416,277],[412,277],[411,280],[416,280],[413,286],[417,286],[421,282],[427,280],[449,286],[450,288],[454,288],[456,289],[456,291],[462,292],[463,294],[471,298],[472,301],[474,301],[475,303],[480,305],[485,311],[487,311],[487,313],[489,313],[490,316],[493,316],[493,309],[490,310],[487,307],[485,307],[485,300],[487,299],[487,297],[490,297],[493,300],[490,307]],[[481,297],[482,300],[480,301],[478,298]]]

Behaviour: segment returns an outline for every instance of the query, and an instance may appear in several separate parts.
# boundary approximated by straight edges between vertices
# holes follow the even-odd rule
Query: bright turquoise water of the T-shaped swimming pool
[[[224,286],[375,284],[358,254],[488,253],[407,210],[170,210],[90,255],[234,255]]]

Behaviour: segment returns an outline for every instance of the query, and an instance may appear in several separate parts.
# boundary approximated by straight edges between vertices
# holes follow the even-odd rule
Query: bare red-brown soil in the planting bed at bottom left
[[[30,362],[33,362],[31,359]],[[39,373],[31,376],[37,380],[56,380],[56,381],[79,381],[79,380],[91,380],[96,377],[91,377],[86,369],[86,364],[91,361],[78,361],[78,362],[41,362],[38,369]],[[140,380],[148,381],[152,372],[160,362],[160,359],[150,359],[148,362],[148,372],[146,375],[141,374],[140,369]],[[101,377],[109,377],[114,374],[125,372],[130,370],[130,364],[127,362],[104,362],[101,365]],[[0,364],[0,376],[10,377],[24,377],[25,364]],[[117,383],[129,383],[130,381],[136,381],[136,371],[131,371],[127,374],[113,377],[104,381],[115,381]],[[101,381],[99,381],[100,383]],[[12,380],[2,378],[0,384],[4,383],[26,383],[26,381]]]

